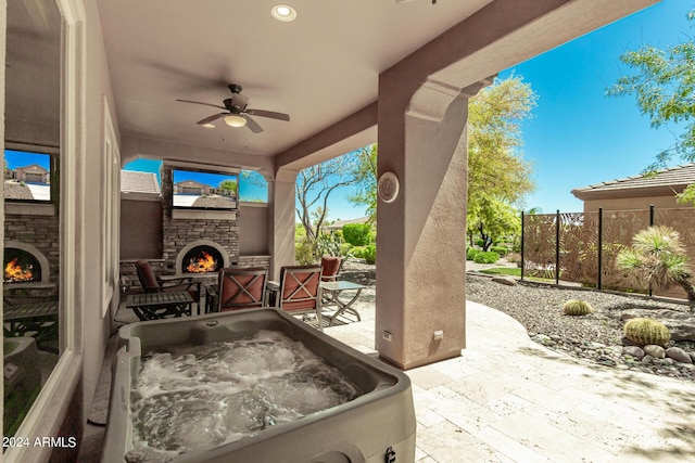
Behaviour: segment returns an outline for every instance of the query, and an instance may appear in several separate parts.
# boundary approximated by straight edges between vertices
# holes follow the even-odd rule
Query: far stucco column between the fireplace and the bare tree
[[[268,180],[269,276],[279,280],[280,267],[294,265],[294,184],[296,170],[280,169]]]

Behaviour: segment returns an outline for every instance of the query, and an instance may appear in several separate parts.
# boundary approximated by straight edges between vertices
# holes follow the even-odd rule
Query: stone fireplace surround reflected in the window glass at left
[[[49,281],[58,283],[61,249],[58,216],[14,215],[4,216],[4,241],[17,241],[43,253],[48,259]],[[42,269],[42,271],[46,271]]]

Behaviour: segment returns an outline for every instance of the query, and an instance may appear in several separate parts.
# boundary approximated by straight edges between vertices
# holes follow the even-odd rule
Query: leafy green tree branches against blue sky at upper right
[[[695,10],[687,14],[695,20]],[[677,46],[659,49],[644,46],[629,51],[620,61],[634,69],[607,89],[609,97],[635,95],[637,107],[649,116],[653,128],[668,124],[683,125],[683,132],[672,146],[657,154],[645,170],[654,171],[667,166],[674,155],[695,160],[695,41],[691,38]],[[688,187],[688,201],[695,200],[695,187]]]

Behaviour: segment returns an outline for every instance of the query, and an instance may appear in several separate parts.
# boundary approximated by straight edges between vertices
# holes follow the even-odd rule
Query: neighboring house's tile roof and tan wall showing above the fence
[[[605,181],[572,190],[584,202],[584,211],[684,207],[675,201],[688,184],[695,183],[695,163]]]

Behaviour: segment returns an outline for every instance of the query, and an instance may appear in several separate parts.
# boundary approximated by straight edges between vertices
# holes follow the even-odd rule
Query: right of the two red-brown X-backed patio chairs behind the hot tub
[[[321,325],[320,266],[287,266],[280,269],[280,286],[276,306],[291,314],[314,313],[318,329]],[[303,318],[306,320],[306,318]]]

